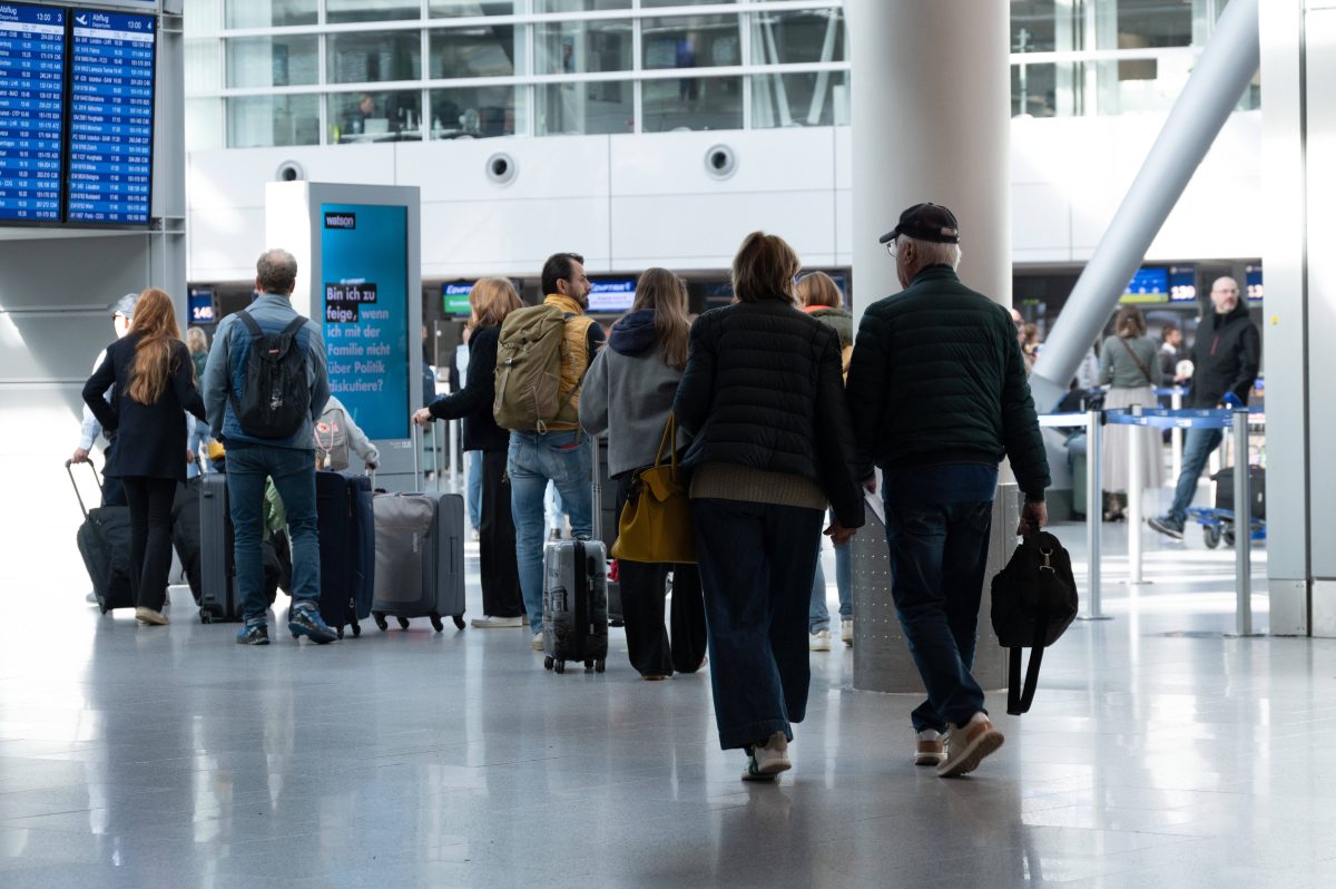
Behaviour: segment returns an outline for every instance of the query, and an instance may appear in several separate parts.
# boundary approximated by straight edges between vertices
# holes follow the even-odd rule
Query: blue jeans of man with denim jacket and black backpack
[[[315,524],[315,452],[248,441],[227,442],[227,501],[236,535],[236,588],[246,623],[265,623],[265,479],[273,479],[287,512],[293,548],[293,604],[319,606],[321,540]]]

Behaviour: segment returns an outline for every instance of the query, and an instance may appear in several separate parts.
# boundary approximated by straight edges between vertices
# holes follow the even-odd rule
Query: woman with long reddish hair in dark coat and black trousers
[[[130,333],[107,346],[107,360],[84,384],[83,398],[115,436],[106,475],[120,479],[130,501],[131,590],[140,623],[167,623],[171,504],[186,480],[186,412],[204,420],[190,350],[180,341],[171,297],[139,294]],[[106,400],[116,388],[112,401]]]

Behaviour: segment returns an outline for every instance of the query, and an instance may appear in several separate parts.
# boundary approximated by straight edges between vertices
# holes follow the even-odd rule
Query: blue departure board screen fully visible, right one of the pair
[[[75,9],[69,64],[73,223],[148,222],[154,148],[152,16]]]

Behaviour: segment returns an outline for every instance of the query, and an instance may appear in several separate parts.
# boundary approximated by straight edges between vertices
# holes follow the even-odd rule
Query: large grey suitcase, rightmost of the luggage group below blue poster
[[[371,616],[381,630],[386,616],[407,630],[410,618],[442,616],[464,630],[464,497],[457,493],[387,493],[371,501],[375,512],[375,594]]]

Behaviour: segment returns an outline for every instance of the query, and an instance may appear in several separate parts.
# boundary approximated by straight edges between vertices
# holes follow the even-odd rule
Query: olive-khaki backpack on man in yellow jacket
[[[566,321],[573,317],[548,305],[516,309],[505,317],[497,340],[492,404],[502,429],[546,432],[548,424],[574,401],[582,376],[565,398],[560,397],[561,364],[569,358]]]

